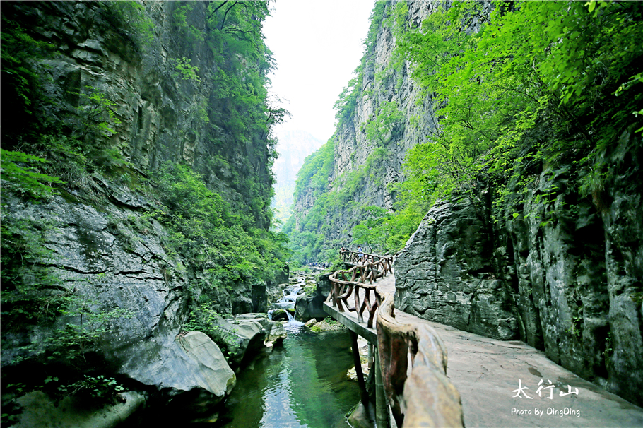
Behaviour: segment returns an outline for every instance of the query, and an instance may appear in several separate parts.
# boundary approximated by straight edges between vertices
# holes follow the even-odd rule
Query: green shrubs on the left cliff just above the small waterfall
[[[172,230],[167,249],[203,270],[206,293],[238,281],[267,280],[281,269],[288,254],[283,234],[252,227],[185,165],[165,163],[155,179],[167,207],[156,218]]]

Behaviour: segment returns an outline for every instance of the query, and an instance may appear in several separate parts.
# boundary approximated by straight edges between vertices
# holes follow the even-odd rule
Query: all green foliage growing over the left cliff
[[[153,40],[153,25],[142,4],[106,1],[97,5],[97,18],[106,18],[111,25],[108,30],[125,36],[125,42],[144,47]],[[109,90],[92,86],[72,89],[64,94],[64,102],[55,105],[42,97],[47,73],[39,64],[53,56],[54,46],[40,41],[40,23],[28,23],[24,16],[21,21],[14,20],[19,13],[11,5],[3,5],[3,105],[11,105],[16,114],[3,114],[2,196],[3,200],[16,194],[42,197],[56,189],[70,200],[86,203],[87,199],[95,202],[94,197],[104,197],[97,196],[95,189],[96,181],[105,175],[118,177],[132,189],[135,184],[146,184],[146,196],[158,195],[158,209],[112,220],[110,227],[134,246],[136,232],[144,233],[151,227],[152,215],[167,225],[171,233],[165,246],[170,256],[179,254],[198,273],[201,279],[192,280],[189,290],[195,302],[203,302],[221,287],[265,281],[283,268],[288,255],[285,236],[267,230],[271,175],[266,160],[270,164],[276,156],[273,126],[288,112],[278,100],[269,98],[266,90],[267,74],[274,65],[261,35],[261,22],[268,13],[266,1],[176,2],[176,7],[184,11],[186,25],[194,22],[192,8],[207,11],[208,22],[199,30],[201,39],[193,40],[211,49],[211,64],[216,66],[208,78],[214,80],[214,91],[193,102],[189,114],[199,122],[194,132],[205,129],[211,138],[213,153],[198,165],[216,177],[216,184],[208,182],[218,185],[230,173],[228,182],[221,186],[223,191],[211,191],[200,174],[180,165],[163,165],[151,180],[134,172],[138,168],[124,159],[123,148],[111,143],[127,138],[113,138],[121,131],[120,110]],[[175,16],[180,18],[180,13]],[[25,28],[27,25],[30,27]],[[96,25],[105,28],[105,21],[97,19]],[[184,29],[179,25],[179,31]],[[193,65],[185,57],[173,66],[179,73],[177,78],[196,83],[204,70],[203,64]],[[78,107],[66,112],[70,105]],[[135,190],[143,191],[140,187]],[[230,196],[231,202],[221,195]],[[17,349],[3,348],[3,356],[16,364],[35,362],[54,373],[43,376],[40,384],[37,379],[25,384],[13,382],[13,391],[42,388],[61,396],[82,392],[100,398],[122,391],[116,379],[105,376],[105,366],[100,365],[95,351],[114,321],[131,314],[90,298],[95,292],[92,284],[72,284],[53,275],[51,254],[45,246],[52,225],[17,220],[12,214],[7,206],[2,207],[2,331],[18,337],[20,343]],[[177,269],[181,268],[178,265]],[[30,343],[34,331],[42,333],[41,340]],[[3,346],[6,343],[3,341]],[[64,374],[58,374],[60,367]],[[9,416],[3,416],[3,422]]]

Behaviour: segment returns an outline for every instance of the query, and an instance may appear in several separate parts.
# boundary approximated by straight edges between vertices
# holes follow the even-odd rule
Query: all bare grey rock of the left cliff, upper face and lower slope
[[[208,2],[190,3],[187,23],[204,30]],[[213,51],[177,27],[175,12],[181,3],[139,3],[152,24],[149,40],[141,40],[128,23],[114,21],[109,10],[114,4],[3,5],[3,14],[11,13],[11,19],[28,27],[37,40],[51,43],[56,53],[35,60],[48,75],[42,90],[51,101],[36,114],[71,128],[76,124],[70,118],[82,104],[79,93],[87,86],[95,88],[115,103],[119,119],[116,133],[102,136],[96,144],[118,150],[139,177],[149,177],[168,160],[190,165],[235,213],[248,213],[255,227],[268,229],[268,136],[230,131],[225,100],[213,78]],[[176,60],[181,58],[199,67],[199,81],[177,77]],[[3,113],[3,126],[10,116]],[[8,143],[3,141],[3,148]],[[41,203],[3,191],[3,220],[8,216],[37,225],[34,232],[40,234],[47,257],[33,263],[59,279],[60,293],[85,299],[98,311],[119,308],[129,314],[107,321],[108,332],[100,337],[107,373],[166,398],[189,392],[190,405],[196,407],[218,402],[234,386],[235,374],[206,335],[179,338],[187,321],[189,288],[204,280],[205,273],[187,269],[188,261],[168,254],[163,245],[167,231],[150,215],[159,208],[156,201],[99,171],[87,181],[82,186],[69,182],[64,194]],[[263,205],[251,205],[253,198]],[[215,303],[225,313],[265,311],[266,284],[240,282],[232,290],[220,290]],[[78,323],[59,316],[50,327],[64,328],[70,321]],[[14,357],[29,357],[20,345],[36,343],[50,333],[3,331],[3,375],[28,376],[17,374],[9,364]]]

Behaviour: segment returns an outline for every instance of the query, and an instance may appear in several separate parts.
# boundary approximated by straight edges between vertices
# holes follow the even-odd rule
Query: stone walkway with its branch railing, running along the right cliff
[[[642,408],[536,348],[394,309],[392,257],[360,256],[343,251],[352,267],[330,276],[324,311],[353,336],[362,403],[357,335],[374,345],[378,427],[643,427]]]

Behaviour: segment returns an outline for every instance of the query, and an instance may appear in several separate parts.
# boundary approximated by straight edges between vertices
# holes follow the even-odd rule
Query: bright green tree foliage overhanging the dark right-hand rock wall
[[[487,17],[481,4],[467,2],[438,9],[421,30],[399,29],[398,49],[412,61],[413,78],[440,103],[440,128],[408,152],[401,186],[407,206],[421,201],[427,208],[480,177],[504,198],[507,182],[529,165],[562,157],[582,169],[586,194],[600,188],[605,170],[596,150],[635,121],[642,100],[630,90],[643,53],[642,8],[590,8],[575,1],[519,1],[510,8],[500,2]],[[474,18],[479,32],[466,30]],[[630,91],[627,100],[614,95],[619,88]],[[541,136],[534,141],[536,130]]]

